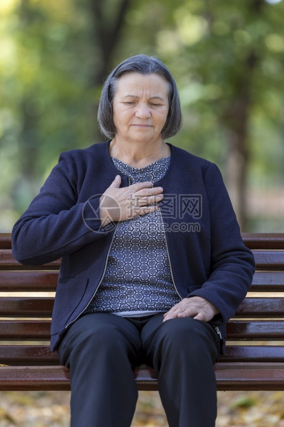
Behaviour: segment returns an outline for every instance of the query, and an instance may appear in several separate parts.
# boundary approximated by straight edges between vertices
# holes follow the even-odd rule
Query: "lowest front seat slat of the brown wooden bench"
[[[153,369],[134,371],[139,390],[157,390]],[[283,364],[216,364],[218,390],[283,390]],[[69,390],[65,366],[1,366],[0,390]]]

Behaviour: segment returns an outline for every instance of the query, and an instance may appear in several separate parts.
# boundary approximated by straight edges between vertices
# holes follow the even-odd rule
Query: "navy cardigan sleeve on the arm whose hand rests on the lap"
[[[208,280],[190,293],[212,302],[219,310],[213,320],[228,322],[250,289],[254,256],[245,247],[223,178],[216,165],[204,174],[210,215],[211,269]]]

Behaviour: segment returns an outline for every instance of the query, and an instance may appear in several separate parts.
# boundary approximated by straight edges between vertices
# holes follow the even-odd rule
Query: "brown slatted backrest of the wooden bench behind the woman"
[[[228,324],[221,362],[283,362],[284,233],[243,233],[243,240],[254,253],[256,273]],[[19,264],[12,256],[10,234],[0,233],[0,364],[59,363],[49,350],[59,267],[60,260],[41,267]]]

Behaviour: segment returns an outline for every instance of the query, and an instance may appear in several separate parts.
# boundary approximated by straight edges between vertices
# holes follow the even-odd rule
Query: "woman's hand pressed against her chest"
[[[160,202],[164,198],[162,187],[153,187],[153,183],[148,181],[122,188],[120,184],[121,177],[117,175],[100,196],[100,220],[103,227],[111,221],[131,220],[159,209],[152,203]]]

